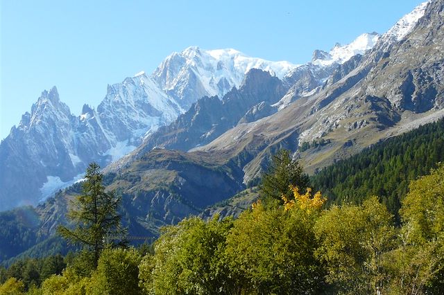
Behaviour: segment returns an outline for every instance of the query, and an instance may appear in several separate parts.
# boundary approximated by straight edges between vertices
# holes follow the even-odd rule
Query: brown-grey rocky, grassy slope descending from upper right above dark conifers
[[[256,150],[244,162],[247,182],[260,175],[267,155],[280,147],[293,150],[314,172],[409,126],[443,116],[443,6],[441,0],[418,6],[371,51],[339,66],[316,93],[266,120],[238,125],[198,150],[238,152],[239,145]],[[298,150],[304,142],[321,139],[324,145]]]

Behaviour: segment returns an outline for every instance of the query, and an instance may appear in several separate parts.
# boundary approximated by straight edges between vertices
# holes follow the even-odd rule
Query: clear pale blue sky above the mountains
[[[314,49],[384,33],[420,0],[0,1],[0,138],[44,89],[73,114],[107,84],[191,45],[305,63]]]

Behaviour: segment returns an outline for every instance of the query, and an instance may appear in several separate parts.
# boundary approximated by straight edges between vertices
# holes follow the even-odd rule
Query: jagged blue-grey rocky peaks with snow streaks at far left
[[[144,74],[109,86],[99,107],[85,105],[80,116],[71,114],[55,87],[44,91],[1,141],[0,210],[37,204],[81,179],[88,163],[119,159],[181,112]]]

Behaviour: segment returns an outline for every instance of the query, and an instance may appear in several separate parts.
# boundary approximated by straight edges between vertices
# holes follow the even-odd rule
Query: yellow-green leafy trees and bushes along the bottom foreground
[[[325,209],[321,193],[256,202],[237,220],[189,217],[152,247],[0,268],[0,294],[442,294],[444,166],[411,181],[401,225],[377,197]],[[65,266],[66,265],[66,266]]]

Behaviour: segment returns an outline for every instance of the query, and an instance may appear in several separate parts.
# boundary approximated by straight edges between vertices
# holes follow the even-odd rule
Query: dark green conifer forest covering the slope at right
[[[430,123],[321,170],[311,184],[329,204],[360,204],[377,195],[400,223],[400,200],[409,182],[444,161],[444,120]]]

